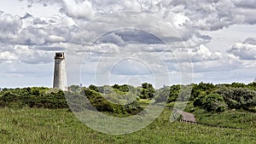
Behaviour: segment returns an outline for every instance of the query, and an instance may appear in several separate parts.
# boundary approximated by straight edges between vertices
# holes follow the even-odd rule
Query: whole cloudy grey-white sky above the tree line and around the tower
[[[0,88],[251,83],[256,0],[2,0]]]

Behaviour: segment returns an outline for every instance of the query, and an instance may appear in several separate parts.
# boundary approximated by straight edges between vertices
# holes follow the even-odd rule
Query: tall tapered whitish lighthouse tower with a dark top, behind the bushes
[[[55,75],[53,88],[67,91],[67,70],[64,53],[55,54]]]

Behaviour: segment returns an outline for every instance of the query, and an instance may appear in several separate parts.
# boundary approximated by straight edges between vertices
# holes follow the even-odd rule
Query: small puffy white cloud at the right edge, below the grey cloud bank
[[[256,60],[256,38],[248,37],[242,43],[235,43],[227,49],[227,52],[241,60]]]

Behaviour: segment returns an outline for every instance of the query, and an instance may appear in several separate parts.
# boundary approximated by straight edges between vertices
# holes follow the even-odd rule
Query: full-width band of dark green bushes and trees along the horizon
[[[186,92],[183,89],[190,87]],[[86,104],[86,101],[91,105]],[[83,110],[88,106],[96,107],[101,112],[136,114],[141,112],[141,99],[155,102],[172,103],[190,101],[194,107],[207,112],[224,112],[228,109],[242,109],[256,112],[256,82],[250,84],[189,84],[165,86],[154,89],[152,84],[144,83],[140,87],[128,84],[112,86],[90,85],[88,88],[72,85],[69,91],[45,87],[2,89],[0,107],[35,107],[35,108],[68,108]],[[67,100],[69,103],[67,103]]]

